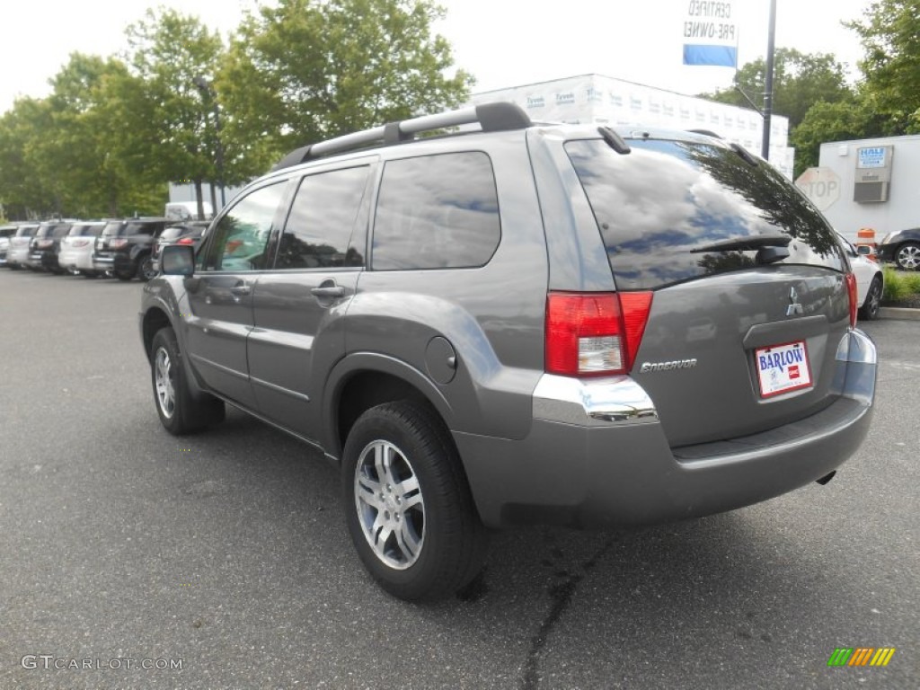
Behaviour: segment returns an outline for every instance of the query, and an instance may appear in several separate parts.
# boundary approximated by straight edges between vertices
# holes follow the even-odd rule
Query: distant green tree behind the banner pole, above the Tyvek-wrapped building
[[[735,85],[740,86],[754,104],[760,107],[764,95],[766,63],[764,58],[747,63],[735,75]],[[789,129],[794,129],[815,103],[838,103],[853,98],[853,90],[846,85],[844,66],[833,54],[803,53],[794,48],[778,48],[774,57],[773,111],[789,119]],[[702,98],[750,108],[736,88],[723,89]]]

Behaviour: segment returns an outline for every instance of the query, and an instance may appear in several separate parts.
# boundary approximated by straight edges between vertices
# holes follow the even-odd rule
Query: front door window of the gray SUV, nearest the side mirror
[[[262,187],[224,213],[213,229],[213,241],[199,256],[198,270],[266,268],[271,222],[283,196],[283,183]]]

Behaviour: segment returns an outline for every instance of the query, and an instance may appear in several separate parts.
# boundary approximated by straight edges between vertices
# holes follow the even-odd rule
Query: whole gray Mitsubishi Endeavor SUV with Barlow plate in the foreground
[[[405,599],[471,581],[487,528],[826,483],[871,418],[834,231],[702,133],[505,103],[387,124],[286,156],[162,269],[140,325],[167,431],[229,403],[315,446]]]

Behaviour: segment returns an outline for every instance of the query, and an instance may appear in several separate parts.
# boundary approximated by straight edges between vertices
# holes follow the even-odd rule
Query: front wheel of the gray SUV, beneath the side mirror
[[[156,413],[169,433],[180,436],[224,420],[223,400],[207,394],[200,397],[191,394],[172,328],[156,331],[151,348],[150,376]]]

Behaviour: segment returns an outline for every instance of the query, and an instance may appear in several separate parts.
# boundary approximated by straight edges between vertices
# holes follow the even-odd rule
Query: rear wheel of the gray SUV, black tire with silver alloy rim
[[[388,458],[385,477],[372,459],[377,449]],[[359,491],[377,505],[359,501]],[[358,556],[374,580],[399,599],[450,596],[482,569],[486,530],[454,442],[430,408],[403,400],[365,411],[345,443],[342,494]],[[371,544],[374,533],[386,535],[374,539],[379,546]]]

